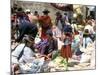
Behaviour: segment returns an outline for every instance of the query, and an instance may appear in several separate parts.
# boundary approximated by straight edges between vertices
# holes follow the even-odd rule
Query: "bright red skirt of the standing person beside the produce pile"
[[[61,48],[61,56],[63,58],[66,58],[66,59],[72,57],[71,44],[66,45],[66,46],[62,46],[62,48]]]

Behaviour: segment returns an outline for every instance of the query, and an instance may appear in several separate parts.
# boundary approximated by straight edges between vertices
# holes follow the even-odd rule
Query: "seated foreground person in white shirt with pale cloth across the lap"
[[[34,37],[27,36],[24,38],[25,43],[19,44],[12,52],[12,71],[14,73],[36,73],[40,72],[41,66],[44,63],[44,57],[36,54],[34,51]],[[32,64],[32,68],[25,71],[27,64]],[[38,64],[38,65],[36,65]],[[27,70],[27,69],[26,69]],[[15,74],[16,75],[16,74]]]

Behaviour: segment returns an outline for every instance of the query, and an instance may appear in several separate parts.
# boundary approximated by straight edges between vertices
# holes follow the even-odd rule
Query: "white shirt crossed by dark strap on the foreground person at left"
[[[19,62],[23,62],[23,60],[25,62],[26,59],[31,59],[35,54],[34,52],[31,50],[31,48],[29,47],[25,47],[25,44],[20,44],[19,46],[16,47],[16,49],[12,52],[12,63],[19,63]],[[20,58],[20,60],[18,61],[17,60],[17,57],[20,55],[21,51],[23,50],[24,48],[24,53],[22,55],[22,57]]]

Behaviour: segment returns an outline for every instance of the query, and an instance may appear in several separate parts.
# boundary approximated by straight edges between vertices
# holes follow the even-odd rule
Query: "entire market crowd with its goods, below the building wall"
[[[11,8],[12,74],[67,71],[70,59],[81,63],[86,55],[87,60],[95,58],[91,56],[95,52],[95,19],[89,15],[79,22],[57,11],[53,23],[50,12],[44,9],[40,15],[16,4]]]

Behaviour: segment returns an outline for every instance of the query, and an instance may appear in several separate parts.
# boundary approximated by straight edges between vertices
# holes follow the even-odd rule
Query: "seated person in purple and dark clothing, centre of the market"
[[[46,57],[46,59],[52,58],[52,55],[58,50],[58,42],[53,38],[52,30],[46,32],[47,39],[42,40],[36,45],[39,52]]]

